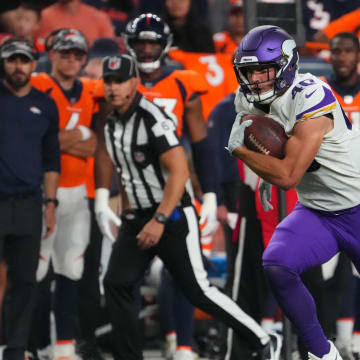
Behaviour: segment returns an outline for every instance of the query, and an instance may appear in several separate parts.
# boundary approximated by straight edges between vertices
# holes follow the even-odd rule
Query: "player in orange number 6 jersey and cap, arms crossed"
[[[51,75],[32,77],[33,86],[49,94],[59,109],[61,175],[58,189],[56,234],[41,248],[38,278],[47,273],[50,259],[55,271],[54,314],[56,345],[54,359],[74,359],[75,318],[78,281],[89,243],[90,211],[86,192],[87,159],[96,148],[90,129],[97,111],[90,81],[78,79],[85,64],[88,45],[77,30],[61,29],[46,42]]]

